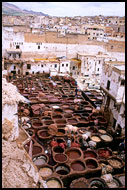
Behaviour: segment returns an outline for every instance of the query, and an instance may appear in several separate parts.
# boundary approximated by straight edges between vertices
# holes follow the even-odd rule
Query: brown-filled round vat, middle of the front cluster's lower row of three
[[[77,161],[74,161],[73,163],[71,163],[71,168],[74,171],[84,171],[85,170],[85,165],[80,160],[77,160]]]

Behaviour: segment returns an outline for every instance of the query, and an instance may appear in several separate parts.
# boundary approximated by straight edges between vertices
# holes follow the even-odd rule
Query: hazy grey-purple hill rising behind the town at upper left
[[[48,14],[44,14],[42,12],[36,11],[28,11],[28,10],[21,10],[15,5],[10,3],[2,2],[2,14],[10,15],[10,16],[22,16],[22,15],[36,15],[36,16],[48,16]]]

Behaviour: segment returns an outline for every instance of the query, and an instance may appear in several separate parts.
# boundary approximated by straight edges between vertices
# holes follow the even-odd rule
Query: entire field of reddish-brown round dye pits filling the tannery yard
[[[124,186],[123,177],[119,177],[124,173],[124,161],[114,157],[114,136],[106,118],[102,112],[95,114],[95,107],[83,93],[75,95],[75,80],[52,77],[57,84],[53,88],[46,74],[21,79],[17,77],[15,85],[30,100],[18,105],[19,123],[30,135],[24,148],[47,187],[107,187],[101,179],[100,160],[114,168],[112,175]]]

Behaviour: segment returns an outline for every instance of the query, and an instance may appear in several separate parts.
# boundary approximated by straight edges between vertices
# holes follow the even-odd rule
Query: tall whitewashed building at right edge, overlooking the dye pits
[[[125,63],[106,62],[102,67],[101,89],[104,91],[104,110],[110,112],[113,130],[125,130]]]

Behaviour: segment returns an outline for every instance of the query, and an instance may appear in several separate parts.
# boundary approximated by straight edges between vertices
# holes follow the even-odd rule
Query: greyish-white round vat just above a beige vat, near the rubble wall
[[[36,156],[33,159],[33,163],[38,167],[48,162],[48,158],[45,155]]]

